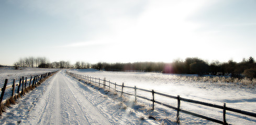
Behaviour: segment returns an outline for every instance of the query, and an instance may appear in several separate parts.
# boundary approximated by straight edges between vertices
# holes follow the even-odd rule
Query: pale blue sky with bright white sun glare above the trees
[[[256,58],[256,1],[0,1],[0,65]]]

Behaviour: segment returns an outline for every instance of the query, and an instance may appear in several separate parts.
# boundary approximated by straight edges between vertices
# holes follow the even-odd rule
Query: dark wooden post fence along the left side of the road
[[[55,72],[57,72],[57,71],[43,73],[43,74],[34,76],[34,78],[31,76],[30,79],[27,79],[27,77],[26,78],[21,77],[19,79],[18,83],[15,83],[15,79],[14,79],[13,82],[12,82],[13,83],[12,85],[7,85],[8,79],[5,79],[4,86],[3,86],[3,88],[1,88],[2,93],[1,93],[1,97],[0,97],[0,104],[2,104],[2,103],[4,104],[6,102],[6,99],[3,101],[4,95],[6,94],[5,90],[12,89],[12,95],[10,97],[14,97],[15,95],[18,95],[18,94],[24,94],[24,90],[26,90],[26,88],[30,88],[30,86],[36,86],[42,80],[51,76]],[[17,88],[17,90],[16,90],[17,92],[15,94],[15,87],[16,86],[18,86],[18,88]]]

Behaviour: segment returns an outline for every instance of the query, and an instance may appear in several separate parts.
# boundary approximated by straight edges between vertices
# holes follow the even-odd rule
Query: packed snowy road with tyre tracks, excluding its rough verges
[[[51,80],[29,124],[110,124],[86,98],[77,83],[63,71]],[[25,123],[25,124],[27,124]]]

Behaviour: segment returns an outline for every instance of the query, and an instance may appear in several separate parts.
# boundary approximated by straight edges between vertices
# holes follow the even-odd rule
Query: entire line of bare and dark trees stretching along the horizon
[[[21,58],[15,62],[15,67],[39,67],[39,68],[94,68],[106,71],[139,71],[139,72],[163,72],[176,74],[206,74],[215,76],[231,76],[235,78],[256,78],[256,64],[252,57],[243,59],[241,62],[229,60],[228,62],[215,61],[208,63],[197,57],[166,62],[133,62],[133,63],[107,63],[98,62],[90,64],[77,61],[71,65],[69,61],[49,62],[45,57]]]

